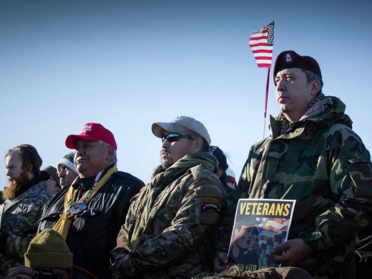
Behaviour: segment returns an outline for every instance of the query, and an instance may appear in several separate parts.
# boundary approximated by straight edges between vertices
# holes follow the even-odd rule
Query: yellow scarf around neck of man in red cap
[[[116,165],[114,165],[113,167],[111,167],[107,171],[107,173],[102,178],[100,178],[98,180],[97,185],[94,187],[90,196],[85,201],[86,204],[88,204],[93,199],[93,197],[98,192],[98,190],[102,186],[105,185],[105,183],[109,180],[111,175],[114,172],[116,172],[117,170],[118,170],[118,168],[116,167]],[[77,181],[77,179],[78,179],[78,177],[74,180],[74,182],[72,184],[74,184]],[[60,233],[62,235],[62,237],[64,238],[64,240],[66,240],[66,238],[67,238],[67,234],[68,234],[68,230],[69,230],[70,225],[71,225],[72,218],[76,217],[76,215],[71,215],[69,213],[68,208],[73,202],[76,201],[76,198],[77,198],[77,195],[78,195],[78,190],[79,190],[79,188],[74,188],[73,186],[70,186],[66,195],[64,196],[64,204],[63,204],[64,205],[64,210],[61,214],[61,217],[58,219],[57,223],[55,223],[54,226],[53,226],[53,230]],[[88,193],[89,193],[89,190],[85,191],[85,193],[81,196],[80,201],[83,201],[85,199],[85,197],[88,195]]]

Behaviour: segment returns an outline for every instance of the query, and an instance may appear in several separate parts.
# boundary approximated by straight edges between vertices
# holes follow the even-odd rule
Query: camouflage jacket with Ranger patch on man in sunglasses
[[[134,227],[148,187],[132,200],[111,252],[113,278],[189,279],[213,269],[217,223],[227,195],[217,176],[197,165],[166,186],[133,249]]]

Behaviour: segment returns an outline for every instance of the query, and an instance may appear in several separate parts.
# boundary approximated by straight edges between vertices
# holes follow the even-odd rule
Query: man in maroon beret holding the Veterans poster
[[[251,147],[228,198],[215,269],[226,268],[239,198],[288,199],[296,205],[289,240],[272,250],[276,263],[303,268],[314,278],[354,279],[356,233],[372,213],[370,154],[345,105],[322,93],[315,59],[280,53],[274,83],[280,113],[270,117],[271,135]]]

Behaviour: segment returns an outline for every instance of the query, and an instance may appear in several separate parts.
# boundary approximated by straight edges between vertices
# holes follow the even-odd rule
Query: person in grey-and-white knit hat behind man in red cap
[[[62,157],[57,164],[58,177],[60,185],[63,187],[70,186],[78,177],[78,171],[74,163],[75,152],[70,152]]]

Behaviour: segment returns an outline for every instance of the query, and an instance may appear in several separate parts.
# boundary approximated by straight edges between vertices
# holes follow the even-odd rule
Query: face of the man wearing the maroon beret
[[[298,68],[279,71],[275,81],[276,100],[280,111],[290,122],[299,120],[313,99],[312,82],[309,83],[306,74]]]

